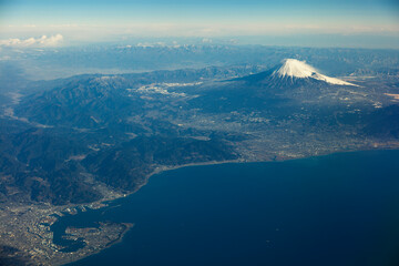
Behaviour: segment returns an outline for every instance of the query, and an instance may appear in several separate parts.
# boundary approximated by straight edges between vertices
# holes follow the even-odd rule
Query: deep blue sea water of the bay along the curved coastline
[[[53,226],[134,223],[71,265],[399,265],[399,151],[193,166]]]

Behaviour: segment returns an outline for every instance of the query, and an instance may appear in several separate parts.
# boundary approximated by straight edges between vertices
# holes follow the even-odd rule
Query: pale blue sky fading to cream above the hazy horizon
[[[368,35],[382,37],[381,47],[399,48],[399,1],[0,0],[1,39],[43,34],[62,34],[65,42],[311,35],[316,43],[326,34],[352,40]]]

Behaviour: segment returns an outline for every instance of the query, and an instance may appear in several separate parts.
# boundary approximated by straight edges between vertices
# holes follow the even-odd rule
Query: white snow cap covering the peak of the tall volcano
[[[320,74],[317,72],[317,70],[315,68],[313,68],[311,65],[307,64],[305,61],[299,61],[296,59],[286,59],[283,63],[283,65],[277,69],[276,71],[273,72],[274,76],[278,76],[278,78],[298,78],[298,79],[315,79],[315,80],[320,80],[320,81],[325,81],[327,83],[330,84],[336,84],[336,85],[354,85],[357,86],[356,84],[336,79],[336,78],[330,78],[324,74]]]

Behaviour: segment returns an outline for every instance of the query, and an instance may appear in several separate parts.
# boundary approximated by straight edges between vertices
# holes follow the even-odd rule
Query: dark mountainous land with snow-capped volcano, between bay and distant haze
[[[321,74],[286,59],[232,70],[80,75],[35,82],[4,106],[4,203],[93,202],[130,193],[161,168],[268,161],[396,145],[395,88]],[[40,89],[42,88],[42,89]]]

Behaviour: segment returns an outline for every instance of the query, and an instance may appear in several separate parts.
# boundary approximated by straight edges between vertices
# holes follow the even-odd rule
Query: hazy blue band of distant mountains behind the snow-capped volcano
[[[143,47],[131,43],[123,47],[99,44],[31,49],[23,52],[18,49],[2,49],[1,52],[0,71],[1,65],[10,69],[9,65],[13,64],[25,73],[27,79],[33,80],[86,73],[200,69],[209,65],[262,65],[267,69],[286,58],[311,62],[332,76],[399,73],[398,50],[217,44]]]

